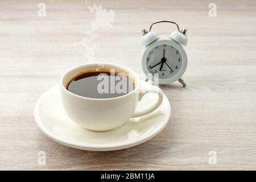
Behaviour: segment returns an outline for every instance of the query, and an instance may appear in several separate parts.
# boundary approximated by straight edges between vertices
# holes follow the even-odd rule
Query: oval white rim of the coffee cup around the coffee
[[[135,78],[135,84],[134,84],[135,88],[133,89],[133,91],[131,91],[131,92],[127,93],[127,94],[124,94],[123,96],[118,96],[118,97],[113,97],[113,98],[90,98],[90,97],[79,96],[79,95],[77,95],[75,93],[70,92],[67,88],[65,88],[65,86],[64,86],[64,78],[67,76],[68,73],[74,72],[76,69],[79,69],[79,68],[85,67],[85,66],[88,66],[88,68],[90,68],[90,67],[95,67],[95,66],[100,67],[101,65],[106,65],[107,68],[108,67],[112,68],[112,66],[113,67],[117,67],[118,69],[121,69],[122,71],[125,71],[127,73],[133,74],[133,76]],[[119,65],[119,64],[106,63],[106,62],[99,61],[97,63],[80,64],[80,65],[77,65],[75,67],[72,67],[71,69],[68,69],[68,71],[64,72],[63,75],[61,75],[61,77],[60,77],[60,85],[61,85],[61,88],[63,90],[65,90],[65,92],[67,92],[68,94],[71,94],[72,96],[75,96],[75,97],[83,98],[83,99],[86,99],[86,100],[93,100],[93,101],[109,101],[109,100],[117,100],[119,98],[123,98],[123,97],[129,96],[130,94],[133,94],[134,92],[137,92],[137,90],[139,88],[139,85],[140,85],[140,80],[141,79],[139,78],[137,73],[135,73],[134,71],[132,71],[131,69],[129,69],[127,67],[124,67],[124,66]]]

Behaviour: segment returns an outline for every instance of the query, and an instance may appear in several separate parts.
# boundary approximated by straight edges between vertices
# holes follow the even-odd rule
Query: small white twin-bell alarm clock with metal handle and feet
[[[184,80],[181,78],[187,68],[187,54],[183,49],[188,43],[186,35],[187,29],[180,31],[178,24],[176,24],[178,31],[172,32],[169,36],[159,36],[156,32],[151,31],[151,28],[156,23],[170,21],[159,21],[151,24],[149,31],[142,30],[142,69],[143,72],[158,73],[159,84],[170,84],[178,80],[185,86]],[[153,81],[153,80],[152,80]]]

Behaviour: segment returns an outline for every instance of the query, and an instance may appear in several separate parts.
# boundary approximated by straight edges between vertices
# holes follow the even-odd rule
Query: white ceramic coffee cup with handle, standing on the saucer
[[[95,69],[115,69],[133,77],[134,90],[114,98],[88,98],[69,92],[67,86],[76,76]],[[60,93],[68,117],[77,125],[92,131],[106,131],[123,125],[129,118],[142,117],[157,109],[163,101],[163,92],[158,86],[141,88],[139,76],[126,67],[109,63],[84,64],[65,72],[60,78]],[[137,104],[147,93],[158,94],[158,99],[145,109],[135,111]]]

